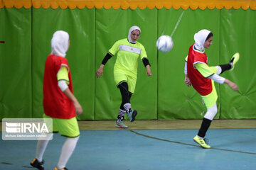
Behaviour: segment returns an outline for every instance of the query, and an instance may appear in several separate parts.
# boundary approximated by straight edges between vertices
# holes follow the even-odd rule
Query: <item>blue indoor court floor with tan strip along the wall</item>
[[[211,149],[193,142],[201,120],[80,121],[80,140],[68,169],[88,170],[253,170],[256,169],[256,120],[213,120],[206,138]],[[65,141],[53,136],[44,154],[45,169],[58,162]],[[0,140],[0,169],[33,169],[36,141]]]

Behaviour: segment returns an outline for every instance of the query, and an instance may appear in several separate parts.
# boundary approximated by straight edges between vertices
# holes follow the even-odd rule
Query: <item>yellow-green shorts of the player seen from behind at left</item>
[[[51,118],[50,116],[43,114],[43,118]],[[60,135],[65,137],[78,137],[80,135],[78,120],[74,118],[70,119],[53,119],[53,132],[60,132]]]

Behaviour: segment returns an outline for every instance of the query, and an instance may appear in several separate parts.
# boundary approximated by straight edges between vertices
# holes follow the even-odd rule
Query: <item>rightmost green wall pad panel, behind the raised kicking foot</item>
[[[240,52],[235,69],[223,74],[238,84],[238,93],[227,85],[220,87],[220,118],[256,118],[256,12],[231,8],[220,14],[220,61],[225,63]]]

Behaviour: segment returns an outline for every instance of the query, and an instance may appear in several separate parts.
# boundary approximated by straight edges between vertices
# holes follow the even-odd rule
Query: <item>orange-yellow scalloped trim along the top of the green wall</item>
[[[144,9],[144,8],[174,8],[202,10],[208,8],[242,8],[247,10],[256,9],[255,0],[0,0],[0,8],[122,8],[122,9]]]

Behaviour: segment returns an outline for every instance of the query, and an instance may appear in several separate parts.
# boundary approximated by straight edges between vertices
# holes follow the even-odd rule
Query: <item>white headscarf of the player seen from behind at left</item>
[[[68,40],[69,35],[67,32],[63,30],[57,30],[53,34],[53,38],[50,40],[51,53],[53,55],[65,57],[66,52],[68,51]]]

